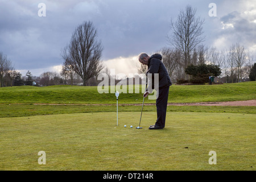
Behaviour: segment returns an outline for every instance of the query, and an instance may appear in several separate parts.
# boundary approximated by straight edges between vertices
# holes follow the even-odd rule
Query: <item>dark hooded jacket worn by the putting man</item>
[[[165,88],[167,86],[171,86],[171,78],[167,72],[166,67],[164,66],[162,60],[162,56],[158,53],[152,55],[150,59],[148,59],[148,71],[146,73],[146,76],[148,76],[148,73],[152,73],[152,81],[148,80],[148,88],[152,86],[152,89],[155,89],[154,87],[154,73],[158,73],[159,77],[159,89]]]

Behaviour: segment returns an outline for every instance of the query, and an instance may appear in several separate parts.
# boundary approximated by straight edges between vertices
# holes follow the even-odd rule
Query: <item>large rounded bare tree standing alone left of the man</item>
[[[80,24],[73,32],[71,42],[64,48],[62,57],[84,82],[97,76],[104,68],[101,63],[103,47],[97,40],[97,30],[92,22]]]

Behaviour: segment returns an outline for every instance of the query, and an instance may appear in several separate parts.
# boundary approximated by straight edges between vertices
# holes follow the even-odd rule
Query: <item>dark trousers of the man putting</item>
[[[158,114],[158,119],[156,119],[155,125],[164,127],[166,125],[166,110],[168,102],[170,86],[166,88],[161,88],[158,90],[158,98],[156,99],[156,111]]]

